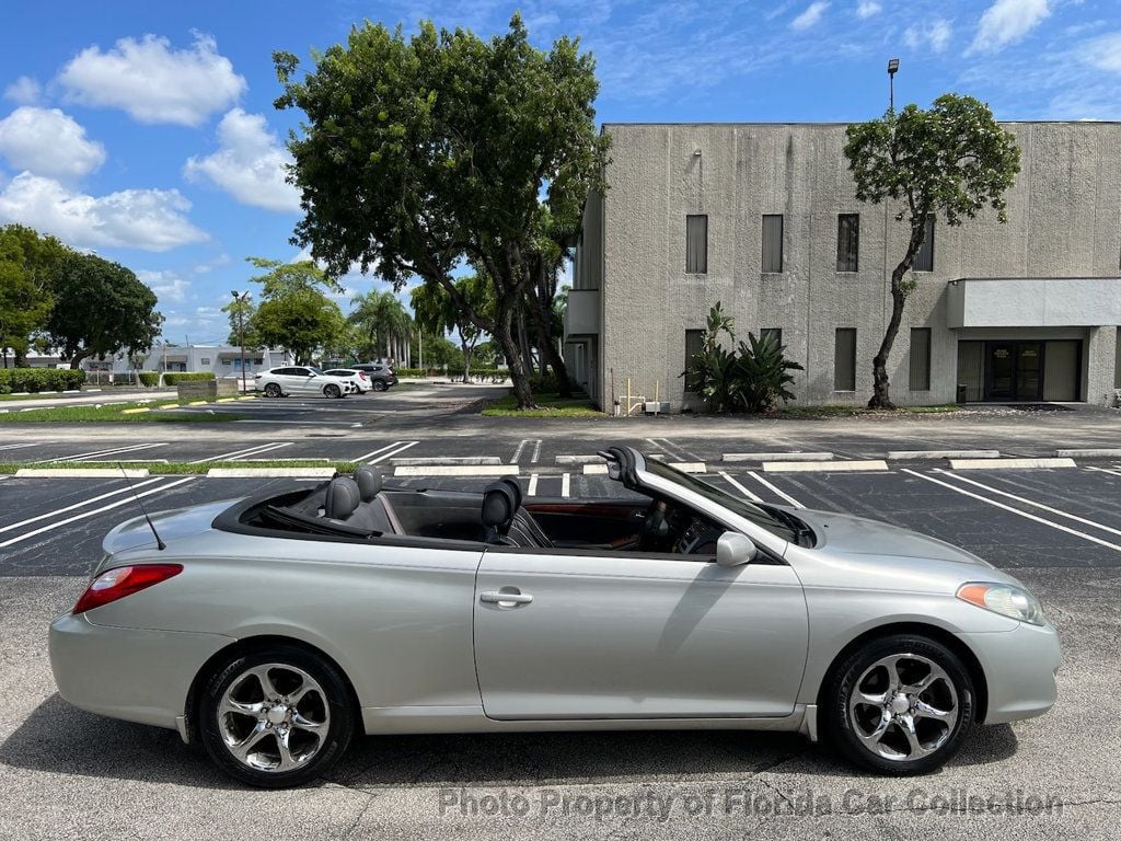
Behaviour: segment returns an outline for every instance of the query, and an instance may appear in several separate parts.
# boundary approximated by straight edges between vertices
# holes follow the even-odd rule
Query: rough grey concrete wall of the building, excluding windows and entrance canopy
[[[1121,275],[1121,124],[1008,123],[1022,169],[1007,224],[982,211],[962,227],[935,224],[934,270],[916,288],[889,361],[899,403],[956,395],[958,331],[947,284],[958,278]],[[688,407],[679,375],[685,331],[703,329],[716,301],[748,331],[779,327],[799,403],[863,404],[871,359],[890,313],[890,271],[907,241],[897,207],[856,201],[842,154],[844,124],[609,124],[609,190],[590,202],[574,285],[601,289],[596,336],[603,403],[631,379],[674,409]],[[594,205],[594,207],[593,207]],[[707,272],[685,268],[686,215],[708,218]],[[859,271],[836,271],[837,214],[860,214]],[[784,215],[784,266],[763,272],[762,215]],[[602,237],[602,243],[600,238]],[[602,248],[602,256],[600,250]],[[600,259],[602,257],[602,259]],[[1121,285],[1118,286],[1121,292]],[[1083,322],[1084,324],[1085,322]],[[1041,326],[1041,325],[1040,325]],[[1110,324],[1105,324],[1110,327]],[[856,388],[835,391],[834,335],[856,329]],[[930,389],[910,391],[910,329],[930,329]],[[1082,331],[1085,334],[1085,331]],[[1108,334],[1108,335],[1106,335]],[[1085,335],[1087,399],[1115,377],[1115,331]],[[1106,352],[1108,351],[1108,352]]]

